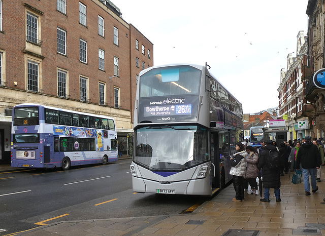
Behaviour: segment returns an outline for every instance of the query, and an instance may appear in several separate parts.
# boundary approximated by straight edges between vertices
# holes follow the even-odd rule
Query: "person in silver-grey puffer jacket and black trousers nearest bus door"
[[[236,143],[236,153],[230,158],[230,174],[233,175],[233,184],[236,191],[236,196],[233,202],[244,201],[244,180],[246,174],[246,162],[245,158],[247,152],[244,151],[244,145],[242,143]]]

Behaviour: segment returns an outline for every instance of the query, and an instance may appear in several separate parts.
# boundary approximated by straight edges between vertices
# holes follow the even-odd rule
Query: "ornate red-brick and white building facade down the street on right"
[[[287,140],[302,139],[310,135],[311,122],[307,115],[310,105],[306,104],[305,88],[310,77],[308,64],[308,37],[304,31],[297,35],[296,57],[287,56],[287,67],[281,69],[279,93],[279,117],[288,128]],[[303,125],[302,125],[303,124]]]

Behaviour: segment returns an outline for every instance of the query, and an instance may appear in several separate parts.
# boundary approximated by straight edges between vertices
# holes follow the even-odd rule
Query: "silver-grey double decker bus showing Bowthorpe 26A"
[[[140,72],[134,191],[212,195],[232,180],[230,155],[243,139],[242,104],[208,67],[173,64]]]

